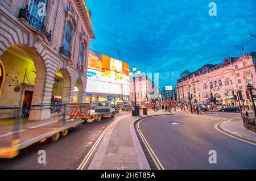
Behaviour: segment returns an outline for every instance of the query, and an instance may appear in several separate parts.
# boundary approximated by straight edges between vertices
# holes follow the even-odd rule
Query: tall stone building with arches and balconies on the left
[[[84,0],[0,1],[0,106],[72,103],[74,90],[85,101],[90,15]],[[30,120],[50,116],[30,112]]]

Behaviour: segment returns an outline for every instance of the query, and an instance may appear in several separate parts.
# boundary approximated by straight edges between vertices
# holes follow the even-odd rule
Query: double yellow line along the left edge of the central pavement
[[[100,137],[98,137],[98,139],[96,140],[96,142],[94,143],[94,145],[92,146],[92,148],[89,150],[88,154],[85,156],[85,158],[83,159],[83,161],[81,162],[80,166],[77,168],[77,170],[82,170],[84,169],[86,163],[89,161],[90,157],[92,156],[94,150],[97,148],[98,144],[100,144],[101,139],[104,137],[104,134],[108,131],[109,127],[111,127],[111,125],[113,125],[115,122],[119,121],[120,119],[122,119],[124,116],[119,117],[117,120],[115,120],[113,123],[109,124],[108,127],[106,127],[104,129],[104,131],[101,133]]]

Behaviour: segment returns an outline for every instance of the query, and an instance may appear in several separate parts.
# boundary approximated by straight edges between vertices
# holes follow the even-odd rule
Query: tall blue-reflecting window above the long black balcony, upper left
[[[39,4],[41,3],[41,4]],[[44,23],[44,18],[46,16],[42,16],[40,15],[38,12],[39,10],[42,9],[43,3],[45,3],[46,5],[46,9],[47,9],[47,4],[48,4],[48,0],[31,0],[30,1],[30,5],[28,8],[28,12],[36,19],[38,19],[41,23]],[[39,6],[40,5],[40,6]],[[42,12],[42,11],[41,11]]]

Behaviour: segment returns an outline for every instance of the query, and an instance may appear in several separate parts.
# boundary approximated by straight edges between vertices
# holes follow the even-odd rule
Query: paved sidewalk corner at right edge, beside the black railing
[[[243,127],[242,118],[228,119],[220,124],[220,128],[233,136],[243,138],[245,140],[256,143],[256,133],[248,131]]]

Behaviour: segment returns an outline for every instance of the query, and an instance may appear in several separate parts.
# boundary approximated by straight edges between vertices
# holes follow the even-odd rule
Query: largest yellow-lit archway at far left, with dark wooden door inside
[[[42,104],[46,71],[42,57],[36,49],[26,45],[13,45],[3,52],[0,59],[0,106],[24,108]],[[45,116],[42,111],[29,113],[30,120],[42,120]],[[15,117],[14,110],[0,113],[1,119],[9,117]]]

